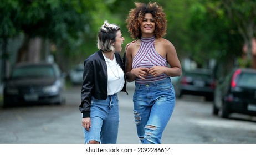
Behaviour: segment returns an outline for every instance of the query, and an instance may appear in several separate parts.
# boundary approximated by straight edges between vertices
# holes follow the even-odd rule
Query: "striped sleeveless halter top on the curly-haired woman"
[[[153,66],[167,66],[166,58],[163,58],[160,54],[156,52],[154,47],[156,37],[141,38],[140,49],[138,53],[134,56],[132,61],[132,68],[151,68]],[[145,80],[136,77],[136,82],[138,84],[149,84],[150,82],[160,81],[168,77],[166,74],[161,74],[160,76],[153,77],[152,75],[147,75]]]

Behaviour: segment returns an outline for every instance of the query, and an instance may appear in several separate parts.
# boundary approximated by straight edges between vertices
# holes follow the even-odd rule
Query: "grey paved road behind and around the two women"
[[[119,93],[120,125],[117,143],[137,144],[132,111],[134,85],[129,95]],[[0,108],[0,143],[84,143],[81,127],[80,87],[66,92],[67,104]],[[211,114],[211,103],[202,97],[177,99],[175,111],[162,136],[163,144],[256,144],[256,117],[232,115],[222,119]]]

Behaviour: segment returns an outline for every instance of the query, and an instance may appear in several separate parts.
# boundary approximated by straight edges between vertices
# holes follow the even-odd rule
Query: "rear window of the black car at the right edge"
[[[255,73],[242,73],[239,77],[238,86],[242,87],[256,87],[256,74]]]

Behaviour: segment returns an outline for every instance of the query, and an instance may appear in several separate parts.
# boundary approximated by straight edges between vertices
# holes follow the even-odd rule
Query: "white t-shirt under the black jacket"
[[[115,55],[113,60],[106,58],[104,54],[103,56],[107,65],[107,95],[113,95],[124,87],[124,71],[117,63]]]

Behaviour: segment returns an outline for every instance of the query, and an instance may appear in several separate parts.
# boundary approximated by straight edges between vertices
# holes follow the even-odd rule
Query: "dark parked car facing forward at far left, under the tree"
[[[65,74],[55,63],[20,63],[4,82],[4,106],[63,104]]]

